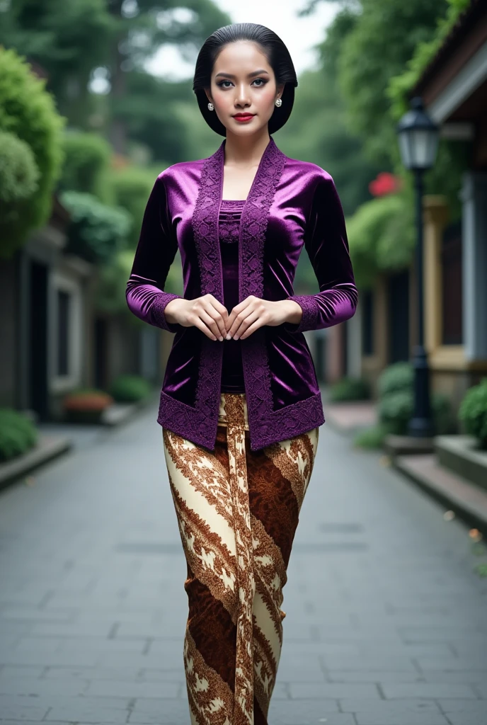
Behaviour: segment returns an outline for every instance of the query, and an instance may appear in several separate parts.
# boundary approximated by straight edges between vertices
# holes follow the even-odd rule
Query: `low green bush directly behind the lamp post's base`
[[[446,433],[451,425],[451,406],[449,399],[440,393],[431,396],[433,421],[437,433]],[[378,417],[380,423],[387,426],[391,433],[399,436],[407,434],[407,426],[414,412],[412,386],[409,390],[389,392],[379,399]]]

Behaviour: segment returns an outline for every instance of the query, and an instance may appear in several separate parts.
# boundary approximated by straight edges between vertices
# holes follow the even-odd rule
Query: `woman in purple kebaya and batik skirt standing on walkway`
[[[184,666],[198,725],[267,724],[286,568],[325,420],[303,332],[357,307],[333,178],[270,136],[295,86],[268,28],[207,38],[193,91],[225,140],[159,174],[127,286],[138,318],[175,333],[157,421],[188,566]],[[303,247],[317,294],[293,291]],[[164,291],[178,249],[183,296]]]

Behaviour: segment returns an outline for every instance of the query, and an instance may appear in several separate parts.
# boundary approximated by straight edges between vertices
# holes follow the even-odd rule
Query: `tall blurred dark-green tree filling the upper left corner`
[[[18,49],[45,70],[47,88],[70,126],[106,133],[119,154],[127,152],[133,128],[139,138],[147,139],[149,131],[154,152],[162,158],[161,138],[170,131],[167,150],[181,152],[185,143],[184,128],[171,115],[172,100],[180,100],[183,88],[158,83],[146,72],[146,62],[165,43],[196,59],[204,39],[228,23],[228,14],[212,0],[0,3],[0,43]],[[102,70],[107,94],[100,97],[92,84]]]

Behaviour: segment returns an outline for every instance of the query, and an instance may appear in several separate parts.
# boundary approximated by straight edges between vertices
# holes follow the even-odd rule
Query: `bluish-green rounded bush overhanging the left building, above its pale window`
[[[71,215],[67,252],[96,264],[112,260],[125,248],[132,223],[128,212],[82,191],[63,191],[60,199]]]

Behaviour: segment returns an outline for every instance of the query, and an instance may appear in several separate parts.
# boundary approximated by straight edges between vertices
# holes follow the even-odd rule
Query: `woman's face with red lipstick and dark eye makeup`
[[[276,86],[275,75],[255,43],[229,43],[215,60],[211,89],[206,91],[222,124],[230,133],[248,136],[267,125],[275,99],[283,94],[284,83]],[[236,114],[251,114],[238,121]]]

